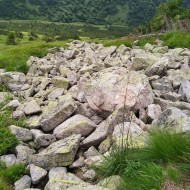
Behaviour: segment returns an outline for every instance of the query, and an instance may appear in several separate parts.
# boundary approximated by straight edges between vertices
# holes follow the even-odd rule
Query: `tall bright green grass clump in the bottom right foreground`
[[[152,131],[144,148],[113,147],[103,163],[94,166],[99,177],[120,175],[120,190],[162,190],[168,181],[185,188],[190,176],[190,135]]]

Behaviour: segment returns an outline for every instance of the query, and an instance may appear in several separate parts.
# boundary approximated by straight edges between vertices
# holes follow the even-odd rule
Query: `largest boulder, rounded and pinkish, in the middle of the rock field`
[[[153,103],[148,78],[121,67],[105,69],[96,79],[81,80],[79,88],[90,107],[101,114],[110,114],[124,105],[138,110]]]

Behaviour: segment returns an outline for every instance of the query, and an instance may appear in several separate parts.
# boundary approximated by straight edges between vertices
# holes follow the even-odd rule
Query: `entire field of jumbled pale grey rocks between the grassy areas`
[[[97,184],[90,167],[113,144],[130,133],[143,146],[155,127],[190,131],[190,50],[137,43],[117,48],[74,41],[31,57],[27,75],[1,71],[0,82],[13,95],[5,107],[27,120],[26,128],[9,126],[20,144],[0,157],[8,167],[29,169],[15,190],[116,190],[119,176]],[[0,92],[0,102],[6,95]]]

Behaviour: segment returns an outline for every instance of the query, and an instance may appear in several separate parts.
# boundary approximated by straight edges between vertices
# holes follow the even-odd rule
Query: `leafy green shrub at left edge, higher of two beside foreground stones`
[[[18,140],[14,134],[6,128],[0,128],[0,156],[10,153],[17,144]]]

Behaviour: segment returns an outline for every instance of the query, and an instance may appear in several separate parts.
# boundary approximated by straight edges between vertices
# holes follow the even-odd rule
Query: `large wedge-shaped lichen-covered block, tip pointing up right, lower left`
[[[76,155],[81,135],[73,135],[52,143],[38,154],[30,156],[30,163],[44,169],[69,166]]]

